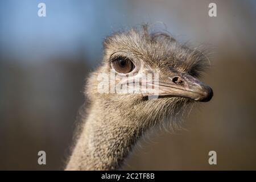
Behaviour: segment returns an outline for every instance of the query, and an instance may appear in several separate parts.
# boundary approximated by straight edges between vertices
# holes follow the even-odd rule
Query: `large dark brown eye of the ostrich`
[[[118,73],[129,73],[134,69],[134,64],[128,57],[116,57],[112,60],[112,65]]]

